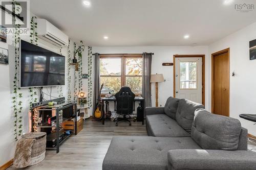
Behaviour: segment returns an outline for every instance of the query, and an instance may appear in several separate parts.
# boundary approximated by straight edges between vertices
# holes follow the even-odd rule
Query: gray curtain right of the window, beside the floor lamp
[[[143,53],[143,76],[142,76],[142,96],[145,99],[145,107],[151,107],[151,63],[152,53]]]

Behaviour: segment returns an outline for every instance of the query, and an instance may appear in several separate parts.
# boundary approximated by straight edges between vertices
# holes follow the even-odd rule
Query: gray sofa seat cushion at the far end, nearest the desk
[[[146,116],[146,128],[148,136],[158,137],[183,137],[190,136],[177,122],[165,114]]]

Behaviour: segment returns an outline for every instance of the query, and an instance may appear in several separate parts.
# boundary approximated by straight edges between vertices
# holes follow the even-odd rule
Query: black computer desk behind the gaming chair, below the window
[[[116,98],[115,97],[111,97],[111,98],[101,98],[101,101],[102,101],[102,104],[104,106],[104,103],[105,102],[114,102],[115,103],[115,111],[116,111]],[[134,98],[134,104],[133,104],[133,110],[135,110],[135,102],[140,102],[140,105],[143,109],[143,119],[142,119],[142,125],[144,125],[144,112],[145,112],[145,105],[144,105],[144,102],[145,102],[145,99],[142,98],[142,97],[135,97]],[[107,106],[105,106],[106,109],[107,109]],[[105,109],[105,110],[106,110]],[[138,115],[137,115],[138,116]],[[103,115],[102,115],[102,125],[104,125],[105,123],[105,111],[103,111]]]

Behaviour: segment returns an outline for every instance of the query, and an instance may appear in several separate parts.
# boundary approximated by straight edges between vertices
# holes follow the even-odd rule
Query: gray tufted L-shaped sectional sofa
[[[212,114],[204,106],[169,98],[164,108],[145,110],[148,136],[113,137],[103,170],[252,170],[247,130],[238,119]]]

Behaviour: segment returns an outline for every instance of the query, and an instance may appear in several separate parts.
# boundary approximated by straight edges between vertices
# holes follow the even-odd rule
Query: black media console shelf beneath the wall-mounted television
[[[58,98],[54,99],[56,105],[49,106],[48,103],[51,101],[45,101],[45,105],[32,104],[36,107],[30,109],[31,132],[46,132],[46,149],[54,149],[58,153],[60,144],[72,134],[77,134],[77,104],[73,101],[65,101],[65,98]],[[62,126],[63,124],[65,126]],[[63,128],[67,126],[68,129]]]

